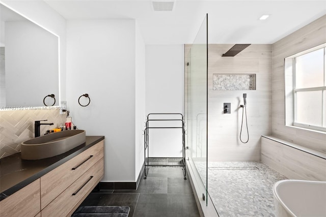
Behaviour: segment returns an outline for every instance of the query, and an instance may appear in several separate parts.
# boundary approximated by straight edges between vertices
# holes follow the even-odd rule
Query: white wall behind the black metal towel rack
[[[183,111],[184,45],[146,45],[146,114]],[[152,129],[150,157],[180,157],[181,142],[181,130]]]

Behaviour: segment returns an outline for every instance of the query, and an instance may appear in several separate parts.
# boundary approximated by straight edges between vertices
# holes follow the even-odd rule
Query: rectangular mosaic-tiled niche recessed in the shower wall
[[[255,90],[256,74],[213,74],[213,90]]]

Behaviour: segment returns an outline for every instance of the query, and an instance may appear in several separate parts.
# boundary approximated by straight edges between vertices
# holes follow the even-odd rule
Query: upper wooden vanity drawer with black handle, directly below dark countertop
[[[100,141],[63,165],[41,177],[41,209],[67,189],[74,181],[104,156]],[[94,178],[93,178],[94,180]]]

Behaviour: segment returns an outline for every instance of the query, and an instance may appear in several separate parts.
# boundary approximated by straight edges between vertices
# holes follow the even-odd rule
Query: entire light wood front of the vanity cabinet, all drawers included
[[[70,216],[104,174],[104,140],[0,201],[0,216]]]

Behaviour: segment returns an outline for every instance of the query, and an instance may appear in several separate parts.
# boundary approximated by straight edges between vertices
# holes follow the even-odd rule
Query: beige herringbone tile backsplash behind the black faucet
[[[45,109],[46,108],[46,109]],[[0,111],[0,158],[20,152],[20,143],[34,138],[34,121],[47,120],[54,125],[42,125],[41,135],[47,130],[57,128],[66,121],[66,114],[60,110],[2,110]]]

